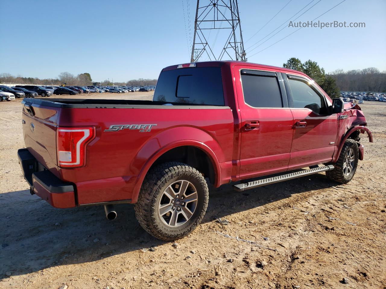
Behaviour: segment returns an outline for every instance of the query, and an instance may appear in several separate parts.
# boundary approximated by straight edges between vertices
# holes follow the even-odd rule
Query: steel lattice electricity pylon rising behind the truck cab
[[[203,6],[200,7],[200,3]],[[210,33],[217,30],[211,44]],[[217,44],[217,38],[227,41]],[[213,34],[212,34],[213,36]],[[221,49],[222,47],[222,49]],[[242,40],[237,0],[197,0],[195,30],[190,62],[222,60],[247,61]],[[229,58],[228,58],[229,57]],[[201,60],[200,60],[201,59]]]

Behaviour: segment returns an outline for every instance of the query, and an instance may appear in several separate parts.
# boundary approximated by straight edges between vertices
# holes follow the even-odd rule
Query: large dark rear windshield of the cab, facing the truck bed
[[[224,105],[220,67],[190,67],[164,71],[154,101]]]

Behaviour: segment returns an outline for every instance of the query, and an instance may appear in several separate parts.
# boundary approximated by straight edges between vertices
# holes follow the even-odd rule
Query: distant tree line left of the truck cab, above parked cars
[[[127,82],[110,82],[107,79],[103,82],[93,82],[90,73],[81,73],[75,76],[69,72],[61,72],[57,78],[40,79],[38,77],[13,76],[9,73],[0,73],[0,83],[9,84],[41,84],[41,85],[61,85],[66,83],[68,86],[89,86],[89,85],[128,85],[128,86],[148,86],[156,85],[157,79],[131,79]]]

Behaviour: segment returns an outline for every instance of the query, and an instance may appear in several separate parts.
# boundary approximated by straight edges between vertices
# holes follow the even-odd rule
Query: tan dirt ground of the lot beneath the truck
[[[133,205],[110,222],[103,207],[55,209],[30,195],[16,157],[20,102],[0,102],[0,288],[386,288],[386,103],[361,105],[374,143],[362,139],[347,185],[319,173],[244,193],[211,188],[202,224],[173,244],[148,235]]]

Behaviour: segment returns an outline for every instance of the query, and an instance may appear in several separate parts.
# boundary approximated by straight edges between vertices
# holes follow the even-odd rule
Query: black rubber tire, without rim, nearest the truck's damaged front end
[[[345,156],[347,154],[347,151],[350,150],[350,148],[354,150],[354,165],[350,174],[345,175],[343,166],[345,162]],[[355,175],[355,172],[357,170],[358,160],[359,160],[358,143],[354,139],[347,139],[343,145],[342,151],[340,152],[338,161],[335,163],[334,170],[326,171],[327,178],[342,184],[348,183],[349,181],[352,180],[352,178]]]

